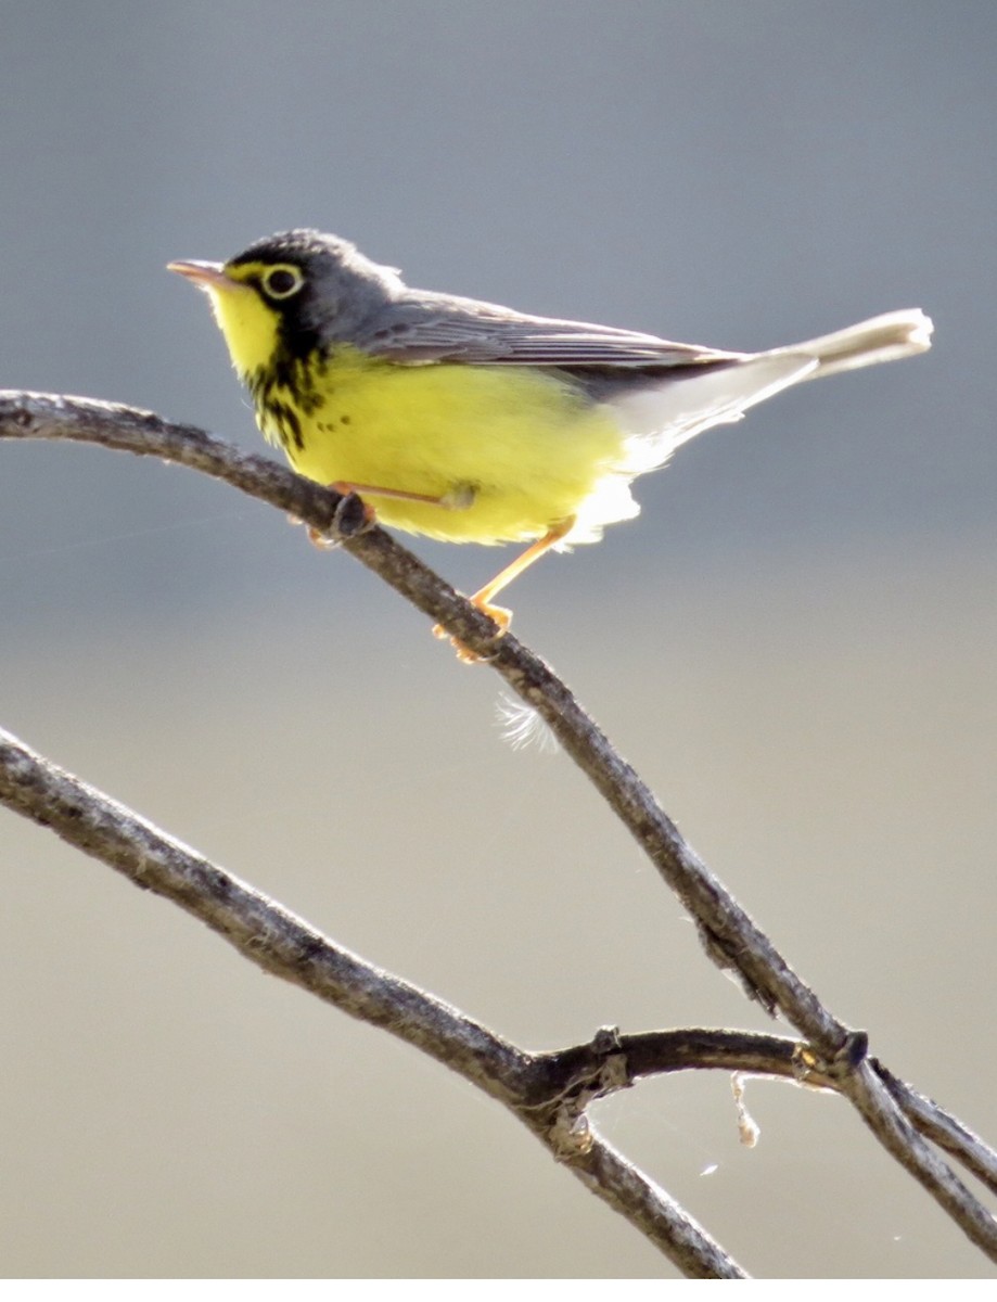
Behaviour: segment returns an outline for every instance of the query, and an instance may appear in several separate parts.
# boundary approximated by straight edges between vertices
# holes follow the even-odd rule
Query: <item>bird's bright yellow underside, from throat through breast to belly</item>
[[[349,346],[277,365],[277,312],[238,280],[208,289],[258,423],[295,470],[458,504],[366,493],[383,523],[502,543],[577,516],[567,542],[586,542],[636,514],[623,435],[569,378],[528,366],[398,366]]]

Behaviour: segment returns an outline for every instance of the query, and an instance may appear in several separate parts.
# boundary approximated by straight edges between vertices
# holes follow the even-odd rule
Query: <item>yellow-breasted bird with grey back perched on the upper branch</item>
[[[676,448],[803,380],[922,353],[932,333],[908,309],[760,353],[677,344],[414,289],[311,229],[168,270],[207,292],[256,423],[294,470],[405,533],[527,544],[470,598],[497,637],[512,620],[497,594],[636,516],[631,482]]]

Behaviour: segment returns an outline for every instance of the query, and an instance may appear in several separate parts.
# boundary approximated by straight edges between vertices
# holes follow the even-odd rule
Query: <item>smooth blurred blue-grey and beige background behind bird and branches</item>
[[[9,388],[259,449],[164,271],[315,225],[410,283],[761,349],[895,307],[513,590],[832,1010],[997,1139],[990,0],[4,3]],[[414,542],[472,590],[501,557]],[[187,471],[0,444],[0,723],[340,943],[549,1048],[768,1029],[561,755],[345,555]],[[669,1276],[525,1130],[0,815],[8,1275]],[[643,1085],[609,1138],[752,1272],[993,1275],[838,1100]]]

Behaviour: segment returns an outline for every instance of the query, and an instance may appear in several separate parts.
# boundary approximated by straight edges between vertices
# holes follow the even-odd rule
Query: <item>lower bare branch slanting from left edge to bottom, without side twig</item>
[[[172,900],[263,971],[380,1026],[504,1103],[683,1273],[743,1277],[687,1212],[592,1134],[582,1112],[571,1109],[569,1120],[562,1100],[552,1096],[539,1107],[543,1069],[480,1022],[335,945],[273,900],[1,730],[0,803],[51,828],[134,885]]]

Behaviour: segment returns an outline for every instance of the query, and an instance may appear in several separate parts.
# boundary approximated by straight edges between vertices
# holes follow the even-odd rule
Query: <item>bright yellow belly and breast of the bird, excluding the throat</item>
[[[327,363],[315,389],[318,404],[299,411],[301,445],[281,440],[292,464],[319,483],[366,486],[377,518],[396,529],[452,542],[538,538],[608,479],[617,497],[625,488],[621,431],[556,374],[349,355]],[[633,510],[603,522],[621,514]]]

